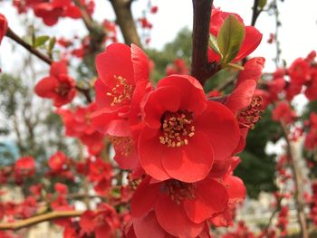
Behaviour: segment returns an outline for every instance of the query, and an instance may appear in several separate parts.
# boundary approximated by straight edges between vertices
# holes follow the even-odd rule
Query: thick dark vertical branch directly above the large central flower
[[[218,70],[216,62],[208,62],[209,24],[213,0],[193,0],[193,50],[191,75],[202,85]]]

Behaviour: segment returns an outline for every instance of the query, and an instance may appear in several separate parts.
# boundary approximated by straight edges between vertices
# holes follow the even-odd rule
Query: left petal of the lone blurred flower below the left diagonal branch
[[[58,87],[58,80],[54,77],[45,77],[39,81],[34,88],[35,93],[43,98],[53,98],[55,89]]]

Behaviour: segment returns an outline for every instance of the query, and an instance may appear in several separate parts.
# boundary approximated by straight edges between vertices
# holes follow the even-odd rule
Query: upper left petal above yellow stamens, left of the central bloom
[[[96,68],[101,81],[110,88],[117,83],[114,75],[125,78],[132,85],[135,83],[130,47],[124,43],[110,44],[105,52],[97,56]]]

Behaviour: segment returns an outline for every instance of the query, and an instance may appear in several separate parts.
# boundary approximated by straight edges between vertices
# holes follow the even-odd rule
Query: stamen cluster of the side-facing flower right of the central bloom
[[[241,109],[238,112],[236,118],[240,128],[255,128],[256,122],[261,119],[260,112],[262,111],[262,101],[263,99],[261,96],[255,96],[252,98],[251,103],[247,108]]]

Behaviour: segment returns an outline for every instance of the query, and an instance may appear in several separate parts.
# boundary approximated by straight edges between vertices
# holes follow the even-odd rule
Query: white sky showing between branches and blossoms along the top
[[[108,0],[95,0],[96,8],[93,17],[102,21],[107,18],[114,20],[114,14]],[[253,0],[215,0],[214,5],[221,7],[223,11],[235,12],[240,14],[245,24],[250,24],[251,7]],[[270,2],[270,0],[268,0]],[[141,16],[142,10],[147,5],[148,0],[135,1],[132,4],[132,10],[135,17]],[[152,0],[153,5],[159,6],[158,14],[150,15],[149,20],[154,25],[151,32],[151,47],[161,48],[164,43],[174,39],[179,29],[187,26],[192,27],[192,1],[191,0]],[[288,64],[297,57],[306,56],[308,52],[317,50],[317,1],[316,0],[284,0],[279,4],[281,12],[282,27],[280,29],[279,39],[282,46],[282,58]],[[9,25],[14,32],[23,35],[23,20],[17,17],[11,1],[5,1],[0,4],[0,12],[5,14]],[[32,15],[32,14],[30,14]],[[36,22],[42,24],[41,21]],[[260,15],[256,27],[264,34],[263,42],[252,54],[254,56],[264,56],[266,59],[265,71],[274,71],[275,46],[266,43],[269,33],[274,32],[274,17],[269,17],[266,13]],[[50,35],[73,34],[84,35],[86,33],[82,21],[73,21],[72,19],[61,19],[59,24],[52,28],[43,27],[43,33]],[[0,47],[0,65],[4,71],[14,71],[16,63],[20,58],[11,52],[9,39],[5,39]],[[24,50],[21,50],[21,53]],[[20,51],[19,51],[20,52]]]

